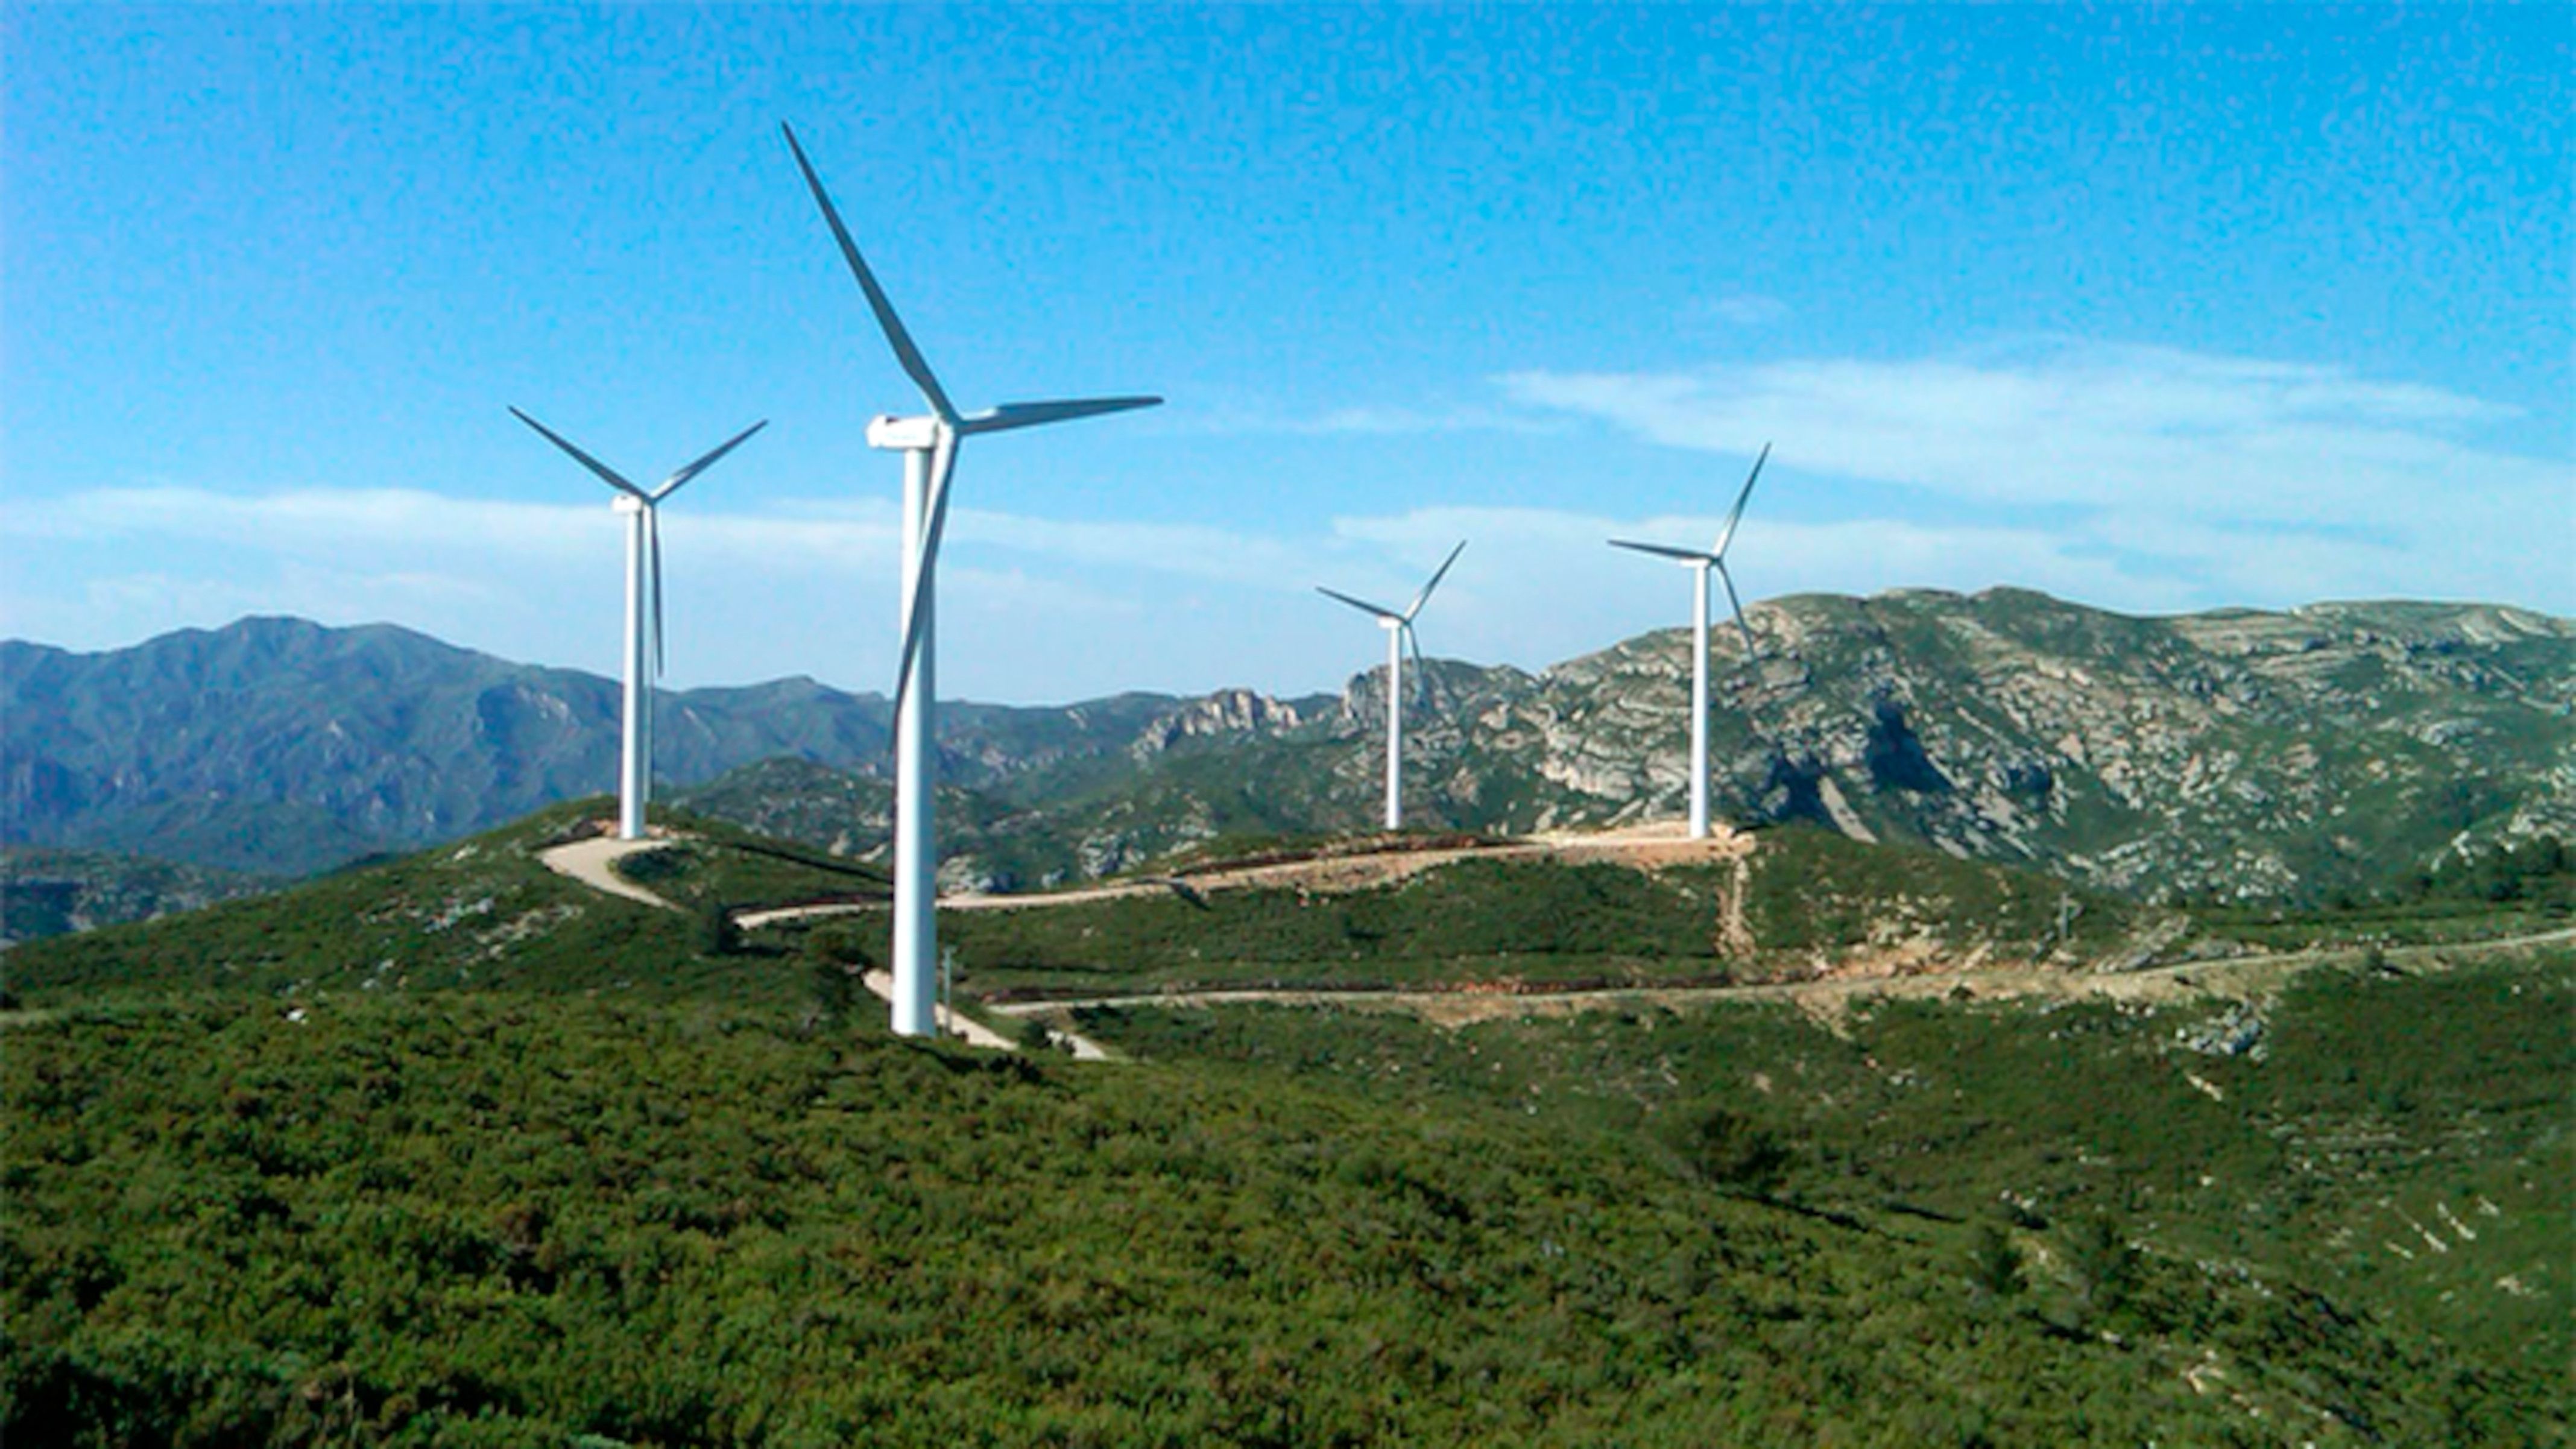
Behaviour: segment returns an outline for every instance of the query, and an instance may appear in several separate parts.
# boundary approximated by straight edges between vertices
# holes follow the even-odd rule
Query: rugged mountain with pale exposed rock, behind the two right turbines
[[[2329,603],[2125,619],[2038,593],[1904,590],[1752,611],[1716,639],[1713,773],[1739,820],[2043,864],[2141,895],[2378,884],[2445,848],[2576,835],[2576,627],[2519,608]],[[1435,660],[1406,709],[1422,804],[1453,825],[1674,815],[1690,634],[1540,676]],[[1365,820],[1383,670],[1332,771]],[[1414,722],[1422,719],[1417,730]],[[1412,807],[1412,804],[1409,804]]]

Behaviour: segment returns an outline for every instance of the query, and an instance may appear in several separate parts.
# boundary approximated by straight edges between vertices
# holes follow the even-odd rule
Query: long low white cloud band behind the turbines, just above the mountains
[[[389,619],[536,663],[616,668],[623,549],[605,508],[443,500],[399,490],[100,490],[28,505],[95,567],[21,570],[0,627],[116,647],[240,614]],[[894,655],[891,508],[786,500],[765,513],[675,508],[665,523],[672,683],[811,673],[881,688]],[[1311,596],[1388,601],[1468,539],[1425,614],[1437,655],[1538,668],[1680,619],[1667,570],[1610,534],[1695,539],[1716,518],[1546,508],[1342,516],[1303,536],[1144,521],[961,511],[940,572],[943,691],[1079,699],[1118,688],[1337,688],[1376,634]],[[1747,523],[1739,583],[1870,590],[1996,578],[2084,598],[2161,603],[2043,534],[1911,523]]]

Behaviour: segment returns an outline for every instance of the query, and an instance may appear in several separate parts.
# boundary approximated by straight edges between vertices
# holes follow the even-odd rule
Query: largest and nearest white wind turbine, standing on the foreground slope
[[[796,155],[822,219],[832,227],[840,255],[850,263],[850,276],[868,294],[868,309],[894,348],[894,364],[922,389],[927,415],[878,415],[868,423],[868,446],[904,454],[904,655],[894,678],[894,1031],[896,1036],[933,1036],[938,1018],[933,1011],[933,982],[938,980],[938,918],[935,918],[935,802],[930,797],[938,755],[938,696],[933,606],[938,601],[940,531],[948,526],[948,477],[956,472],[958,441],[974,433],[1005,433],[1010,428],[1036,428],[1038,423],[1069,423],[1100,413],[1126,413],[1151,407],[1162,397],[1077,397],[1064,402],[1005,402],[984,413],[958,413],[948,402],[948,389],[930,374],[922,351],[912,345],[912,333],[894,315],[894,302],[876,284],[858,242],[840,224],[832,196],[824,193],[814,162],[796,144],[796,131],[778,126]]]

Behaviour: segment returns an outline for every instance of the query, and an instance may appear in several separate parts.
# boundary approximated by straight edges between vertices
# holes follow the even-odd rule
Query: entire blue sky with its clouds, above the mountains
[[[1334,688],[1311,585],[1538,668],[1754,598],[2576,614],[2576,10],[10,5],[0,634],[389,619],[889,683],[917,400],[1170,405],[963,454],[943,694]]]

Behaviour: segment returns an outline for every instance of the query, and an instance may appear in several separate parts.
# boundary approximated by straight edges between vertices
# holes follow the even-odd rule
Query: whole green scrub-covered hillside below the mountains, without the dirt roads
[[[598,812],[0,959],[0,1434],[2568,1439],[2563,946],[1832,1026],[1108,1008],[1131,1062],[1074,1065],[886,1036],[866,915],[716,928],[881,895],[863,866],[701,822],[629,861],[662,910],[538,864]],[[1726,874],[1471,856],[945,928],[999,993],[1012,951],[1690,977],[1893,931],[2081,967],[2169,920],[1780,830],[1747,918],[1803,933],[1765,964],[1713,954]]]

